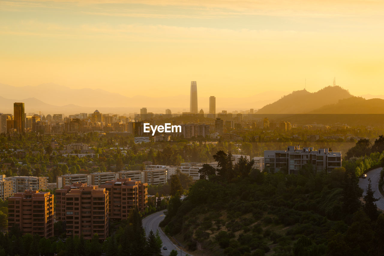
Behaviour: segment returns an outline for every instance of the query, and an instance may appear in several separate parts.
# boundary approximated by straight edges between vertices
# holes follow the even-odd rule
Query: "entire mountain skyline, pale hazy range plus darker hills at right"
[[[3,95],[18,96],[13,99],[0,96],[0,112],[4,113],[13,112],[13,102],[25,102],[26,113],[41,111],[44,114],[90,113],[96,109],[102,113],[127,114],[139,112],[141,107],[147,107],[149,112],[155,113],[164,113],[166,108],[171,109],[173,113],[189,111],[188,95],[127,97],[101,89],[71,89],[56,84],[23,87],[0,84],[0,91],[5,92]],[[217,97],[216,111],[259,108],[255,113],[260,116],[269,114],[293,116],[296,114],[381,114],[384,112],[384,99],[375,98],[371,94],[366,95],[368,99],[355,97],[348,90],[339,86],[327,86],[317,92],[308,92],[303,89],[283,96],[284,93],[266,91],[242,98]],[[199,109],[203,108],[207,112],[208,97],[200,97],[198,102],[200,102]]]

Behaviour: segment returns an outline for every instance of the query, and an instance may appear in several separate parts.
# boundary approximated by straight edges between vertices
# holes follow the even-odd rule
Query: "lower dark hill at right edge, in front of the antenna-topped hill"
[[[308,114],[384,114],[384,99],[350,97],[322,106]]]

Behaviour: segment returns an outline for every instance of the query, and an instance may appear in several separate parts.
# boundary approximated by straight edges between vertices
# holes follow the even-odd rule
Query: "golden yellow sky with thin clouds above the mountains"
[[[384,94],[380,0],[0,0],[0,83],[243,97]],[[5,92],[6,94],[7,92]],[[15,97],[13,97],[15,98]]]

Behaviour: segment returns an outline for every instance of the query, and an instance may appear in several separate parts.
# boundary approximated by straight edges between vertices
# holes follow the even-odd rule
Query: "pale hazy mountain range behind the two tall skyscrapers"
[[[139,112],[140,108],[147,107],[149,112],[161,113],[169,108],[172,112],[189,111],[189,85],[185,86],[185,95],[176,96],[156,96],[156,92],[145,92],[145,96],[136,95],[127,97],[119,93],[112,93],[102,89],[72,89],[58,84],[48,83],[38,86],[10,86],[0,83],[0,91],[3,97],[12,97],[7,102],[24,102],[24,99],[35,97],[40,102],[31,102],[26,106],[26,112],[35,112],[36,109],[61,109],[60,113],[78,113],[93,112],[99,109],[103,113],[108,112]],[[198,90],[200,90],[198,88]],[[202,91],[203,89],[201,89]],[[200,91],[200,93],[201,93]],[[239,109],[258,109],[265,104],[276,101],[287,92],[265,91],[255,95],[246,94],[243,97],[216,97],[216,110],[239,110]],[[16,98],[16,99],[15,99]],[[36,103],[36,104],[35,104]],[[70,104],[82,106],[68,106]],[[46,106],[46,107],[44,107]],[[10,111],[12,105],[5,101],[0,102],[0,112]],[[198,97],[198,107],[203,108],[205,112],[209,110],[209,97]],[[33,109],[33,110],[32,110]],[[108,111],[108,112],[107,112]],[[119,111],[119,112],[118,112]],[[55,111],[57,112],[57,111]]]

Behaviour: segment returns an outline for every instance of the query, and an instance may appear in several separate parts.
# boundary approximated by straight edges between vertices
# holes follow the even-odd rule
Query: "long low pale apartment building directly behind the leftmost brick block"
[[[13,176],[5,180],[12,181],[12,193],[25,192],[25,190],[46,190],[48,177]]]

